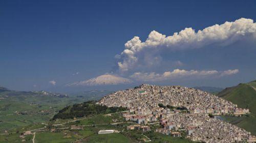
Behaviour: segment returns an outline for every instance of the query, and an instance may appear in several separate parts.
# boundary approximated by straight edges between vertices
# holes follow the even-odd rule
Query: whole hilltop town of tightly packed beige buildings
[[[127,107],[126,121],[138,124],[161,124],[156,132],[204,142],[254,142],[250,132],[214,118],[214,115],[242,116],[249,109],[200,90],[180,86],[142,84],[134,89],[117,91],[103,97],[98,104]]]

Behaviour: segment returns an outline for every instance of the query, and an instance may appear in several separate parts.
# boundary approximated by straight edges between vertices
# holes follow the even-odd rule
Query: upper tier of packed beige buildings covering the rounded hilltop
[[[147,114],[159,109],[158,104],[186,107],[191,113],[245,114],[248,109],[200,90],[180,86],[156,86],[142,84],[135,89],[118,91],[103,97],[100,104],[124,106],[131,112]]]

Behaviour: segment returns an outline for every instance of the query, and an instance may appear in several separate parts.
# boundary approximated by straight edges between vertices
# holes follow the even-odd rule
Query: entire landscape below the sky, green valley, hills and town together
[[[253,82],[239,84],[223,90],[218,97],[191,88],[148,84],[114,93],[88,91],[69,96],[3,89],[0,142],[200,142],[208,140],[201,136],[210,135],[207,127],[220,131],[220,125],[234,134],[239,132],[243,140],[253,139],[247,132],[255,134],[251,86]],[[251,100],[231,101],[241,94]],[[100,130],[117,132],[99,134]],[[225,130],[221,134],[224,136],[218,135],[218,142],[232,139]],[[215,135],[208,137],[214,139]]]

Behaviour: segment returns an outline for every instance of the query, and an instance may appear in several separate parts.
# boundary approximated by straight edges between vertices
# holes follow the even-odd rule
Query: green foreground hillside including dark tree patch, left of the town
[[[122,117],[123,107],[107,107],[87,101],[61,109],[54,120],[47,126],[31,124],[18,132],[0,134],[0,142],[181,142],[193,143],[184,137],[173,137],[170,135],[154,132],[159,124],[148,125],[152,130],[142,129],[129,130],[128,126],[138,126],[135,122],[127,122]],[[82,118],[79,118],[82,117]],[[74,119],[73,119],[74,118]],[[99,130],[117,130],[113,134],[98,134]],[[34,133],[19,137],[21,132],[33,130]],[[185,132],[182,132],[182,136]],[[150,137],[150,138],[148,138]]]

